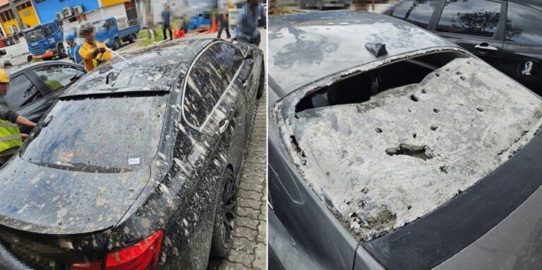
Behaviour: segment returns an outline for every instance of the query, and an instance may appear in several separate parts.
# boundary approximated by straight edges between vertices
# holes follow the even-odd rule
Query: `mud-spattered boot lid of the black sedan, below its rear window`
[[[150,169],[74,172],[16,157],[2,175],[1,224],[33,233],[75,234],[115,225],[147,184]]]

